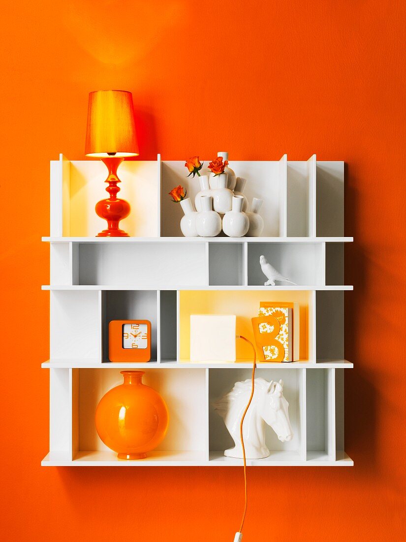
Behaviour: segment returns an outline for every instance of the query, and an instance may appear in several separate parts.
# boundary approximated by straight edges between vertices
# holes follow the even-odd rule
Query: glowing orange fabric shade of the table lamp
[[[85,153],[99,158],[139,155],[132,93],[90,92]]]

